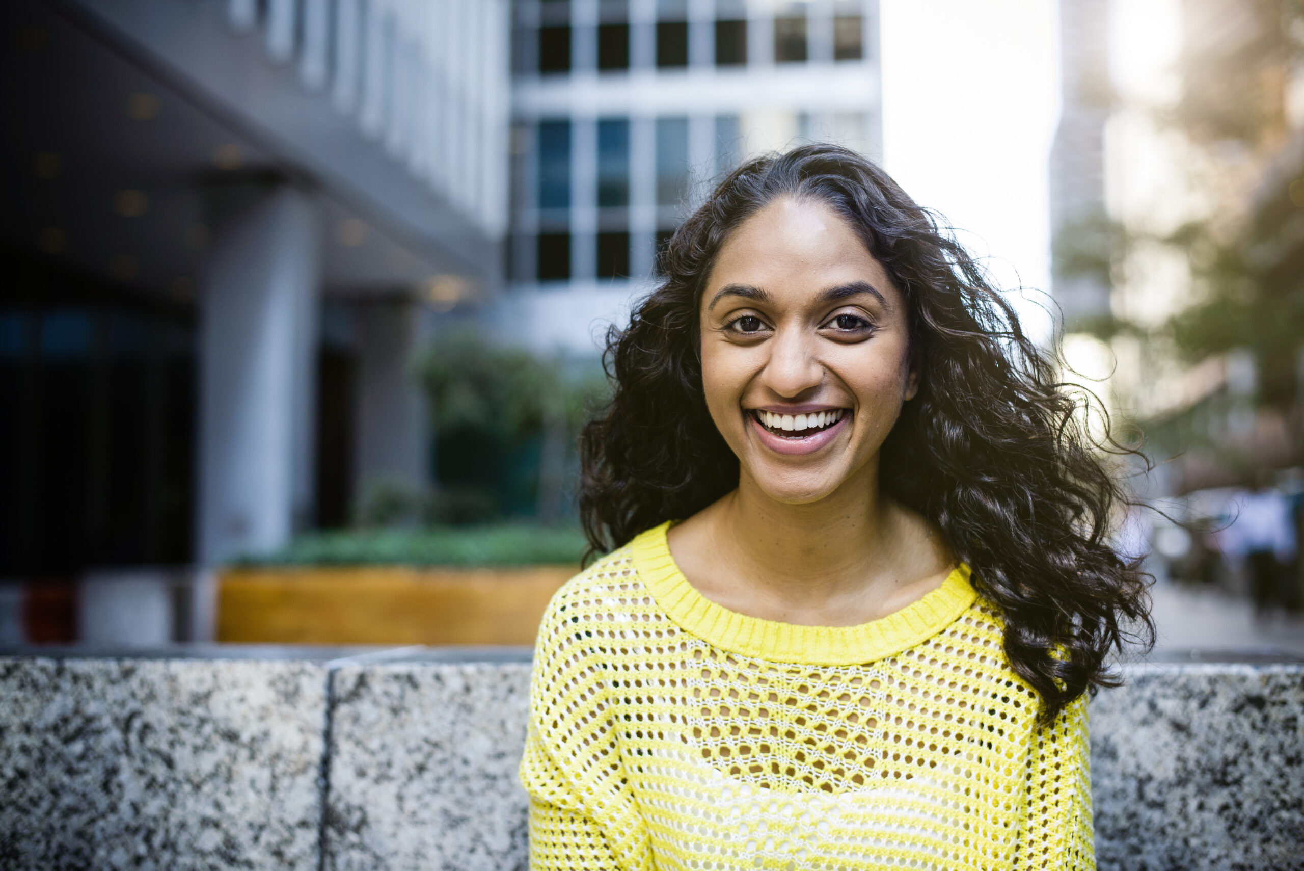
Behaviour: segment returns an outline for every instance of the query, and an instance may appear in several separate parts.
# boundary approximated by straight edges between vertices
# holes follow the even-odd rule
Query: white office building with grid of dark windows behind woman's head
[[[745,158],[882,156],[878,0],[516,0],[511,291],[493,331],[595,353],[656,253]],[[506,317],[501,306],[510,306]]]

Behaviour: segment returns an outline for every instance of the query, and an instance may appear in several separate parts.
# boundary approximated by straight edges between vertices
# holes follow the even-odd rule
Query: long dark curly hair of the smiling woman
[[[840,214],[909,306],[919,391],[880,455],[882,486],[940,527],[1004,612],[1005,656],[1050,722],[1125,640],[1153,644],[1146,575],[1108,544],[1127,499],[1093,438],[1082,398],[1022,331],[968,252],[878,166],[808,145],[746,163],[721,181],[660,258],[664,282],[608,332],[614,395],[580,442],[580,516],[591,554],[685,519],[738,486],[738,458],[702,387],[699,301],[721,244],[780,197]]]

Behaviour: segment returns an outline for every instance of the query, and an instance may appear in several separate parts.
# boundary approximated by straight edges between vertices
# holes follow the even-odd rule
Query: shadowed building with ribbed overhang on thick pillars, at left
[[[426,476],[422,312],[502,282],[509,4],[14,0],[0,33],[0,627],[186,638],[185,566]],[[106,589],[136,604],[76,627]]]

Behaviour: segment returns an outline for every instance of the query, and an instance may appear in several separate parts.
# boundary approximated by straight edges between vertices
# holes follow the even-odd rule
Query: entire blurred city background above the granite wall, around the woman
[[[1304,652],[1296,0],[12,0],[0,644],[529,643],[599,349],[857,149],[1153,464],[1161,647]]]

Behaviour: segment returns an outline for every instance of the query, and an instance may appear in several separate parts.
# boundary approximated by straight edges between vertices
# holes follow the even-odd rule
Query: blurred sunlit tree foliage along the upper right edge
[[[1184,4],[1183,98],[1170,121],[1213,149],[1239,143],[1262,155],[1267,180],[1249,219],[1228,228],[1221,215],[1189,223],[1163,240],[1184,252],[1200,288],[1196,305],[1168,322],[1188,360],[1253,351],[1258,400],[1296,400],[1296,360],[1304,343],[1304,164],[1281,172],[1284,86],[1304,64],[1301,0],[1204,0]]]

